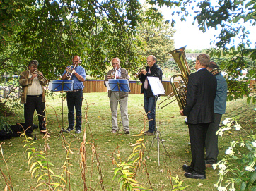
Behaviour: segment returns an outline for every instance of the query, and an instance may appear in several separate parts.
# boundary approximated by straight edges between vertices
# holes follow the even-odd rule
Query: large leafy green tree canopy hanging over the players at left
[[[37,59],[39,70],[50,79],[62,73],[75,54],[93,75],[105,74],[112,56],[120,57],[124,68],[136,67],[140,45],[133,37],[140,11],[135,0],[1,1],[0,63],[24,69]]]

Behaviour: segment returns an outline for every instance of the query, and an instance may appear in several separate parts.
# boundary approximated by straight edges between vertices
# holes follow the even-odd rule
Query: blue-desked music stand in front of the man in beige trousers
[[[109,90],[111,90],[112,92],[131,92],[129,87],[129,81],[126,79],[109,79],[108,85],[110,87]],[[120,100],[118,99],[117,101],[120,106]],[[117,130],[117,133],[120,130],[120,125],[121,125],[121,106],[119,111],[119,127]]]

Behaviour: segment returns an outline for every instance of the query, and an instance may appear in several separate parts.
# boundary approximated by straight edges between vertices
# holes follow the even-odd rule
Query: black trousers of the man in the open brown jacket
[[[37,111],[39,130],[45,130],[45,102],[42,102],[41,96],[27,96],[27,101],[24,104],[24,118],[26,133],[33,132],[33,116],[35,110]]]

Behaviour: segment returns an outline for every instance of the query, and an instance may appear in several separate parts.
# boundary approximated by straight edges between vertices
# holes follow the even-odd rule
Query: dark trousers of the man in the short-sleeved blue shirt
[[[66,101],[69,109],[69,128],[73,129],[74,127],[74,109],[76,108],[76,130],[81,130],[83,90],[77,92],[67,92]]]

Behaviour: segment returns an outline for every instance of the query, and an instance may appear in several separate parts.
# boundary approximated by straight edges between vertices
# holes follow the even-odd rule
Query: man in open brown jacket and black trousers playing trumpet
[[[39,130],[45,133],[45,90],[44,85],[47,85],[47,80],[40,80],[42,73],[37,71],[38,61],[33,60],[28,64],[28,70],[20,74],[20,85],[22,86],[21,104],[24,104],[25,134],[32,137],[33,132],[33,116],[37,111]]]

